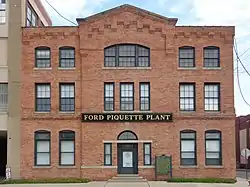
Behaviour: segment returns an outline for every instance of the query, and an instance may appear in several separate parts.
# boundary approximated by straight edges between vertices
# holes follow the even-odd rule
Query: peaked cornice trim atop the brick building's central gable
[[[108,10],[104,10],[102,12],[99,12],[97,14],[93,14],[91,16],[88,16],[88,17],[85,17],[85,18],[76,18],[76,21],[78,22],[78,24],[80,22],[84,22],[84,21],[88,21],[89,19],[92,19],[94,17],[98,17],[98,16],[101,16],[103,14],[106,14],[107,12],[110,12],[110,11],[113,11],[113,10],[116,10],[116,9],[119,9],[119,8],[124,8],[124,7],[127,7],[127,8],[134,8],[134,9],[138,9],[140,10],[141,12],[144,12],[146,14],[149,14],[151,16],[154,16],[156,18],[159,18],[159,19],[162,19],[164,21],[170,21],[170,22],[175,22],[175,24],[177,23],[178,21],[178,18],[168,18],[168,17],[165,17],[165,16],[162,16],[160,14],[156,14],[154,12],[150,12],[148,10],[145,10],[145,9],[142,9],[142,8],[139,8],[139,7],[136,7],[136,6],[133,6],[133,5],[129,5],[129,4],[123,4],[123,5],[120,5],[120,6],[117,6],[117,7],[114,7],[114,8],[110,8]]]

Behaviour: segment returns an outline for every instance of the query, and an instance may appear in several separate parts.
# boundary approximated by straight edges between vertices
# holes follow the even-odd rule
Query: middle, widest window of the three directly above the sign
[[[134,84],[121,83],[120,109],[122,111],[134,110]]]

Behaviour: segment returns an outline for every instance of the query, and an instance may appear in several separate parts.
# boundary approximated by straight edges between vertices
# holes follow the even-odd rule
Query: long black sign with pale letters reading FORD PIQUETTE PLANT
[[[172,113],[83,113],[82,122],[172,122]]]

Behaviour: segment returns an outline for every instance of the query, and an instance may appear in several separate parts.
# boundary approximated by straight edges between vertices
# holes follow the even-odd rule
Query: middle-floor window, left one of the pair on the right
[[[180,110],[195,111],[194,83],[180,83]]]

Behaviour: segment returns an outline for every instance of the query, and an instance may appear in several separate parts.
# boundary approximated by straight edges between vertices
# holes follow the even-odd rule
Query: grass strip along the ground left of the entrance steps
[[[41,183],[88,183],[89,179],[79,178],[55,178],[55,179],[19,179],[19,180],[3,180],[0,184],[41,184]]]

